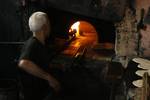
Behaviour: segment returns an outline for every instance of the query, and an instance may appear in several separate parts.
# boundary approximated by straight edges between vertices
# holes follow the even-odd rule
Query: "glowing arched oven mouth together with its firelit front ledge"
[[[57,38],[56,42],[60,43],[59,45],[65,45],[66,48],[62,51],[62,53],[72,57],[79,55],[85,55],[90,59],[99,59],[100,56],[111,57],[111,55],[114,54],[114,43],[109,41],[100,43],[99,39],[101,38],[99,37],[103,35],[98,32],[99,31],[97,31],[95,26],[90,22],[77,20],[73,24],[69,25],[67,31],[68,38]]]

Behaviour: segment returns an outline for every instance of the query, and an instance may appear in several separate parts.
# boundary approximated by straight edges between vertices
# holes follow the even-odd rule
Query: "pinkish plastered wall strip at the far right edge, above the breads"
[[[143,24],[145,25],[144,29],[140,30],[140,55],[141,57],[150,57],[150,0],[137,0],[136,2],[136,11],[137,19],[140,20],[141,9],[144,9],[144,18]]]

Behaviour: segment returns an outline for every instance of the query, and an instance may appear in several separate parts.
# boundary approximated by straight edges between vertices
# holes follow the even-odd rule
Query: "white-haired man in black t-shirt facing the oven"
[[[59,90],[59,82],[48,72],[51,57],[45,40],[49,36],[49,26],[46,13],[35,12],[29,18],[33,36],[26,41],[18,64],[23,69],[25,100],[43,100],[51,90]]]

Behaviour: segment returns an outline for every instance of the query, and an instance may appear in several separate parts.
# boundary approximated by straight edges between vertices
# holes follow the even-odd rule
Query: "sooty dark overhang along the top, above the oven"
[[[125,8],[134,6],[134,0],[48,0],[48,2],[61,10],[111,21],[121,20]]]

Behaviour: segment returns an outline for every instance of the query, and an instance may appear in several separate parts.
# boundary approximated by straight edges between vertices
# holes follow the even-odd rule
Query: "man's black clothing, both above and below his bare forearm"
[[[52,58],[51,53],[52,51],[49,51],[47,46],[43,45],[37,38],[31,37],[23,46],[19,60],[30,60],[41,69],[48,71],[49,63]],[[50,89],[46,80],[35,77],[23,70],[21,71],[21,79],[25,95],[29,98],[35,99],[35,97],[38,97],[37,95],[39,94],[42,97],[42,94],[44,96],[47,93],[46,91],[49,91]],[[30,92],[33,92],[35,95],[33,93],[31,95]]]

